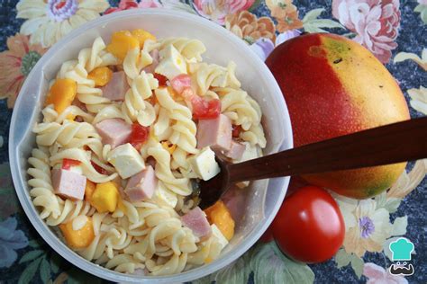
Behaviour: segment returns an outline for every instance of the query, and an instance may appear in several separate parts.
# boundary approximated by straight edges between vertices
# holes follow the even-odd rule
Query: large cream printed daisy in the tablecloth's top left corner
[[[21,0],[16,5],[16,17],[27,19],[21,32],[31,35],[30,43],[41,43],[46,48],[99,17],[108,6],[106,0]]]

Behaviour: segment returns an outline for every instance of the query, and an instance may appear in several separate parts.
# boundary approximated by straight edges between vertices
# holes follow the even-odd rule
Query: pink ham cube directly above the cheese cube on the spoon
[[[223,114],[213,120],[199,120],[197,148],[211,146],[213,151],[227,152],[232,147],[232,120]]]

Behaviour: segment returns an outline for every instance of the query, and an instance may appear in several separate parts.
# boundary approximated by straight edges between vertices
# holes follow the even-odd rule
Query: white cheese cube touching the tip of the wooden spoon
[[[206,146],[195,156],[188,159],[193,171],[204,181],[212,179],[220,173],[220,166],[215,161],[215,153]]]

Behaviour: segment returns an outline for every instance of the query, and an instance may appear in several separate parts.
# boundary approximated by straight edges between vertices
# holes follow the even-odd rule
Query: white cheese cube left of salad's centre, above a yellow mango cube
[[[108,162],[114,165],[119,175],[127,179],[145,169],[140,153],[129,143],[117,146],[108,155]]]

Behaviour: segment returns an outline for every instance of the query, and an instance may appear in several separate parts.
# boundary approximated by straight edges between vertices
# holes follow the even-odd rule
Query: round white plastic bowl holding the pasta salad
[[[237,76],[241,80],[242,88],[259,102],[263,111],[263,125],[268,139],[265,154],[293,146],[289,114],[277,82],[268,67],[243,40],[217,24],[189,13],[162,9],[134,9],[105,15],[72,31],[55,44],[32,69],[15,103],[11,122],[9,158],[14,186],[25,213],[39,234],[51,248],[80,269],[116,282],[191,281],[230,264],[259,239],[275,217],[285,197],[289,178],[253,182],[250,188],[245,190],[250,198],[243,209],[244,217],[236,226],[236,235],[232,242],[218,260],[190,271],[163,277],[123,274],[86,261],[69,249],[50,227],[46,226],[32,205],[28,193],[27,159],[35,145],[32,127],[41,119],[41,106],[49,80],[56,75],[62,62],[77,58],[78,51],[90,47],[96,37],[101,36],[108,42],[114,31],[137,28],[148,30],[158,38],[188,37],[202,40],[207,49],[204,54],[204,60],[207,62],[226,66],[233,60],[237,64]]]

